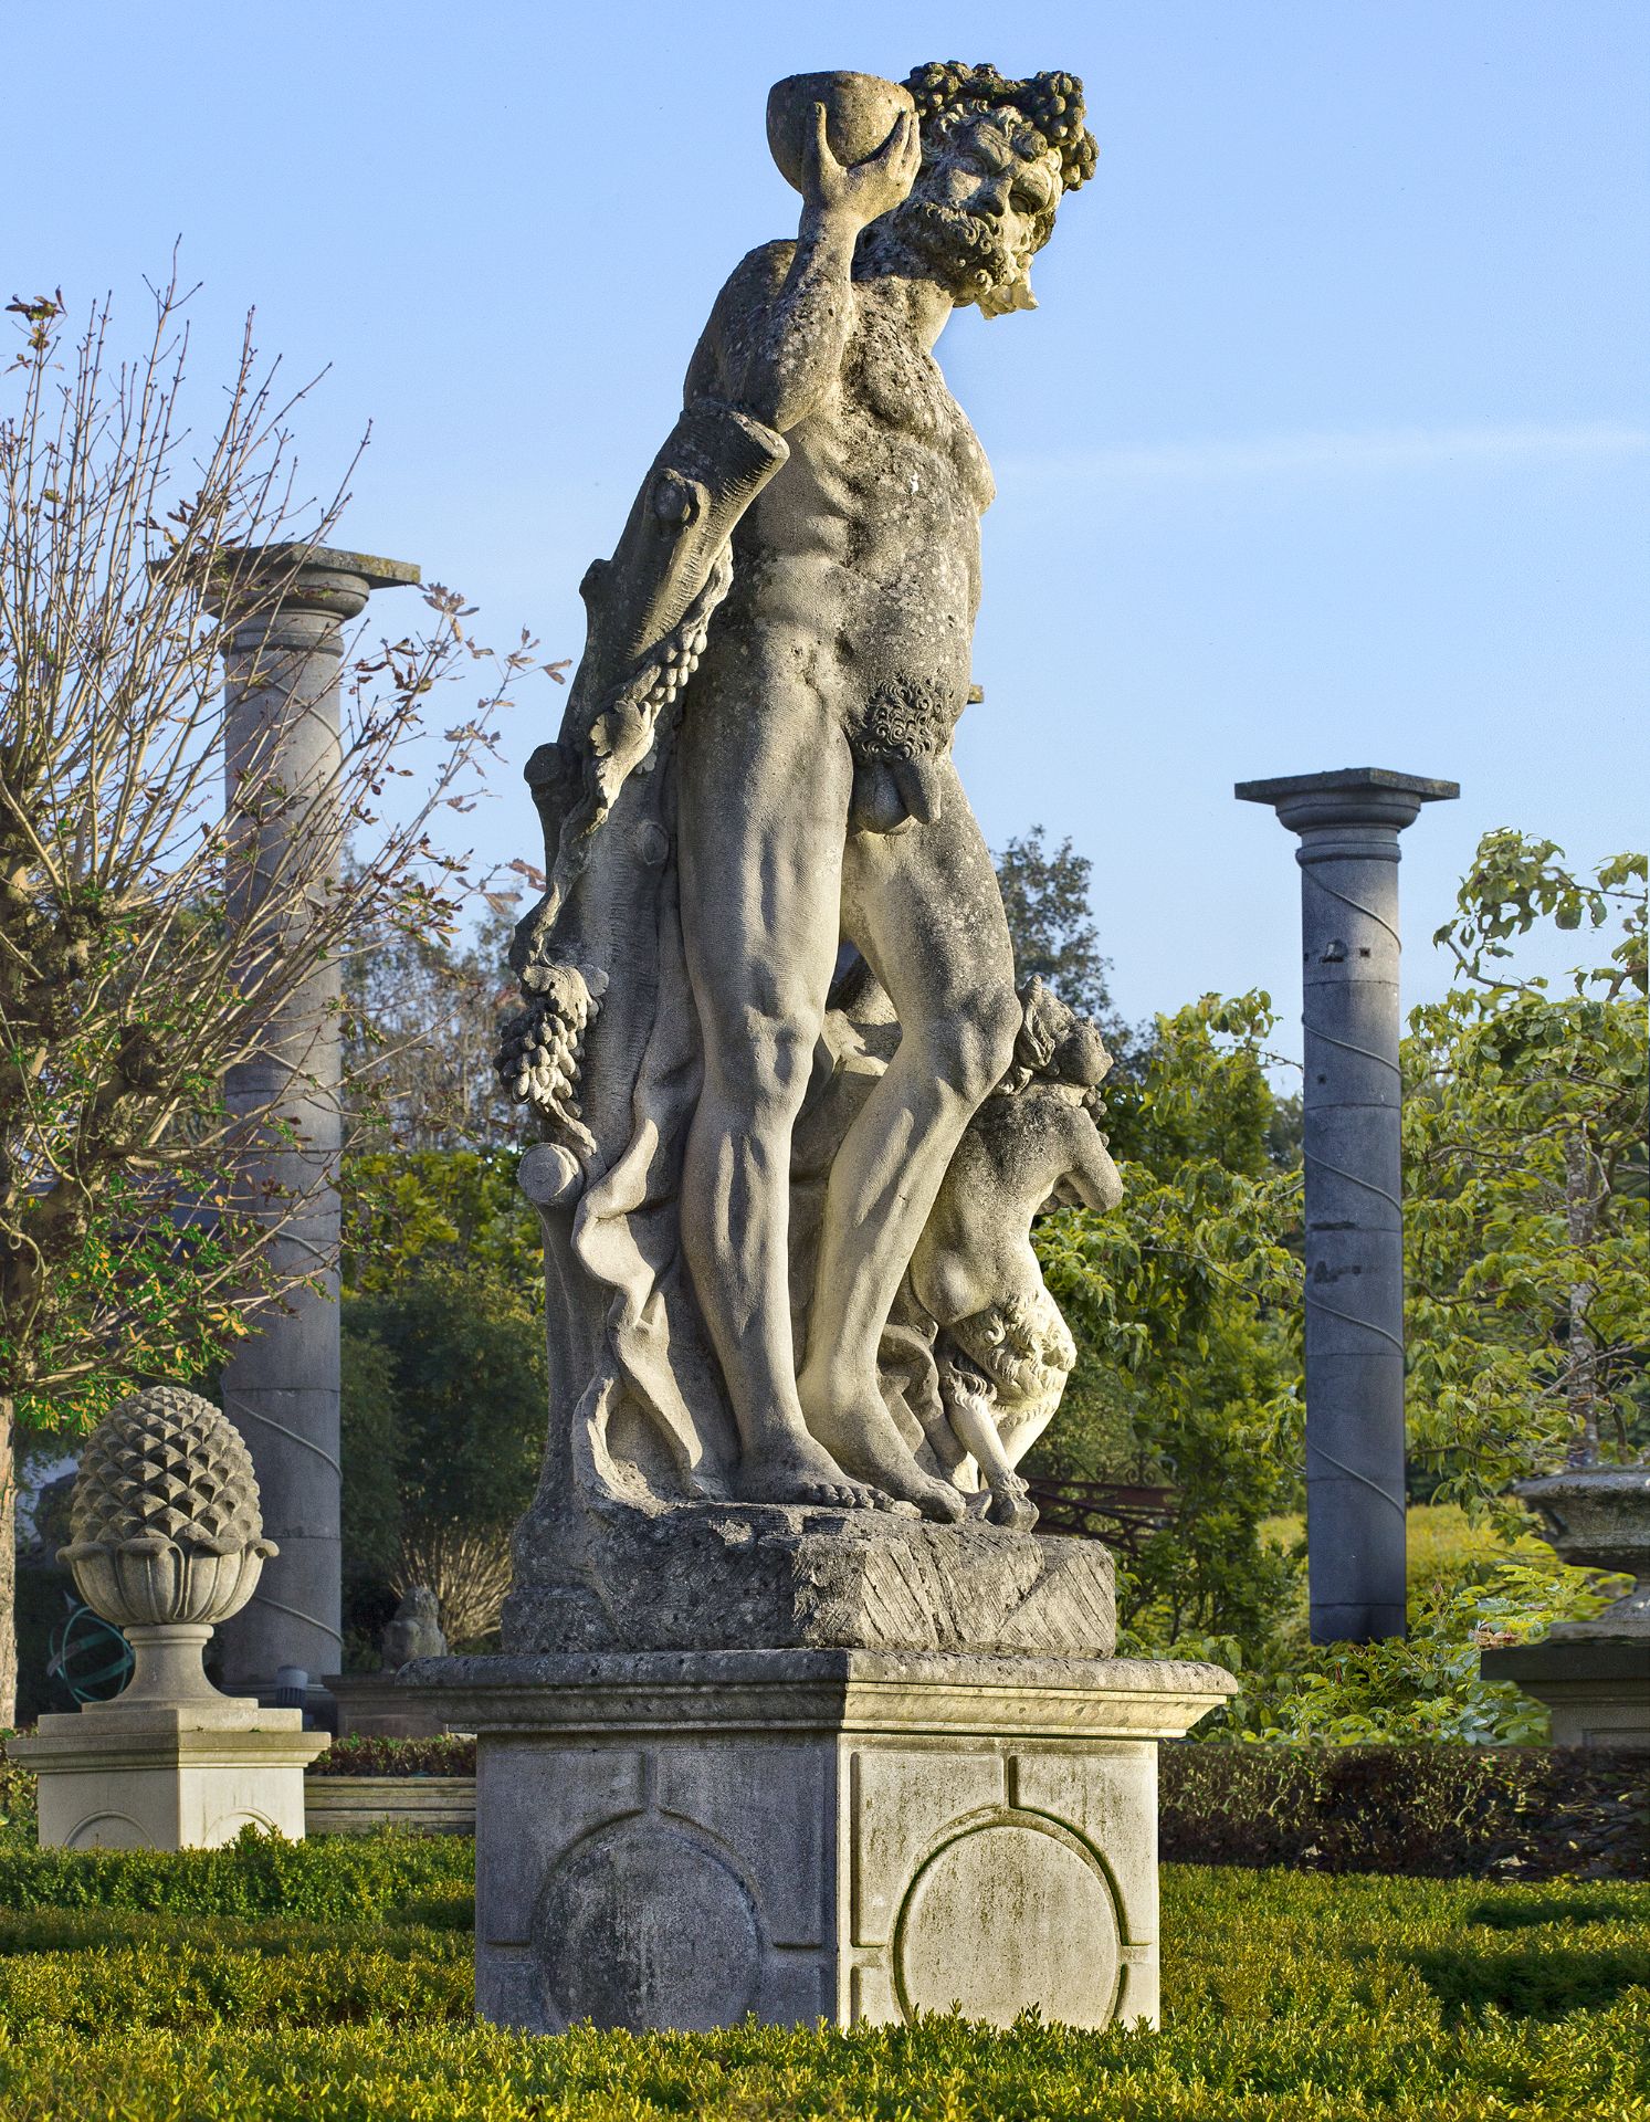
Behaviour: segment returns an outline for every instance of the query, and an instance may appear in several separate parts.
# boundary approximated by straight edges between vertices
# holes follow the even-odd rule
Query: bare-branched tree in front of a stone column
[[[221,656],[282,603],[344,497],[303,501],[291,418],[248,329],[204,431],[185,424],[176,274],[131,361],[110,308],[78,342],[62,295],[11,303],[0,373],[0,1727],[11,1719],[13,1420],[83,1426],[151,1377],[197,1375],[291,1294],[303,1201],[248,1201],[227,1072],[318,966],[386,934],[450,934],[469,811],[507,690],[534,662],[469,639],[431,588],[424,632],[346,654],[341,747],[282,785],[231,762]],[[72,344],[70,344],[72,342]],[[428,732],[435,688],[481,698]],[[386,804],[407,783],[416,794]],[[352,864],[341,879],[341,840]],[[246,889],[248,862],[259,889]],[[271,919],[271,908],[278,917]],[[346,985],[348,991],[348,985]],[[348,1008],[348,1004],[346,1004]],[[337,1025],[320,1027],[337,1040]],[[348,1048],[348,1040],[344,1042]],[[286,1057],[301,1069],[301,1055]],[[235,1101],[244,1106],[244,1101]],[[322,1180],[331,1173],[320,1173]],[[331,1263],[310,1260],[310,1273]]]

